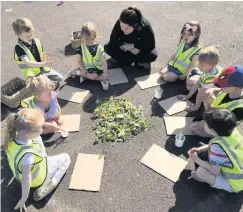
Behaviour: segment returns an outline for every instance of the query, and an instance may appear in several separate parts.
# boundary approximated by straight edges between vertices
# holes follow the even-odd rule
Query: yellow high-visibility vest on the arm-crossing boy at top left
[[[41,42],[37,38],[34,38],[34,41],[36,43],[36,46],[37,46],[40,58],[42,58],[43,51],[42,51]],[[29,61],[36,62],[36,60],[35,60],[33,54],[31,53],[31,51],[22,42],[18,41],[17,45],[19,45],[24,50],[24,52],[26,53]],[[18,58],[16,52],[14,52],[14,59],[15,59],[16,63],[18,64],[18,66],[20,68],[20,71],[21,71],[22,75],[24,76],[24,78],[27,78],[29,73],[33,73],[34,76],[37,76],[38,74],[40,74],[40,72],[41,72],[40,68],[30,68],[22,60],[19,61],[19,58]],[[46,71],[46,72],[49,72],[50,71],[50,67],[43,67],[43,70]]]

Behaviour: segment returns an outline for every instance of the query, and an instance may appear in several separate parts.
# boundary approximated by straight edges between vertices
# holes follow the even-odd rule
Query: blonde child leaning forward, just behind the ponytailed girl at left
[[[24,108],[37,108],[44,113],[45,123],[42,134],[53,133],[61,129],[61,108],[54,91],[55,85],[47,76],[28,76],[27,82],[33,92],[33,96],[23,100]]]

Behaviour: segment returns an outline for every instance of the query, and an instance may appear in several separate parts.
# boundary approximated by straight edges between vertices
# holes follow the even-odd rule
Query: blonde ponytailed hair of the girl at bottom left
[[[26,108],[16,114],[11,113],[5,126],[4,150],[7,150],[8,144],[16,138],[18,132],[22,130],[32,132],[44,121],[44,115],[38,109]]]

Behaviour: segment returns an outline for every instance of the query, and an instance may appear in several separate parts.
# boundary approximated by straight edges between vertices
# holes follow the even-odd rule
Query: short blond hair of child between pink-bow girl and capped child
[[[217,65],[219,62],[219,50],[215,46],[208,46],[201,50],[198,60],[210,65]]]

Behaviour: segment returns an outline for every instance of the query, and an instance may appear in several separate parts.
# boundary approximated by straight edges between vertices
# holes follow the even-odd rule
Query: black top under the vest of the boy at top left
[[[38,52],[38,49],[37,49],[37,46],[36,46],[34,39],[32,40],[31,44],[26,43],[26,42],[22,41],[21,39],[18,39],[18,41],[20,41],[22,44],[24,44],[30,50],[30,52],[32,53],[36,62],[41,62],[41,58],[40,58],[40,55],[39,55],[39,52]],[[43,47],[42,47],[42,51],[43,51]],[[19,61],[21,61],[21,58],[27,56],[25,51],[19,45],[15,46],[15,52],[16,52],[18,58],[19,58]]]

